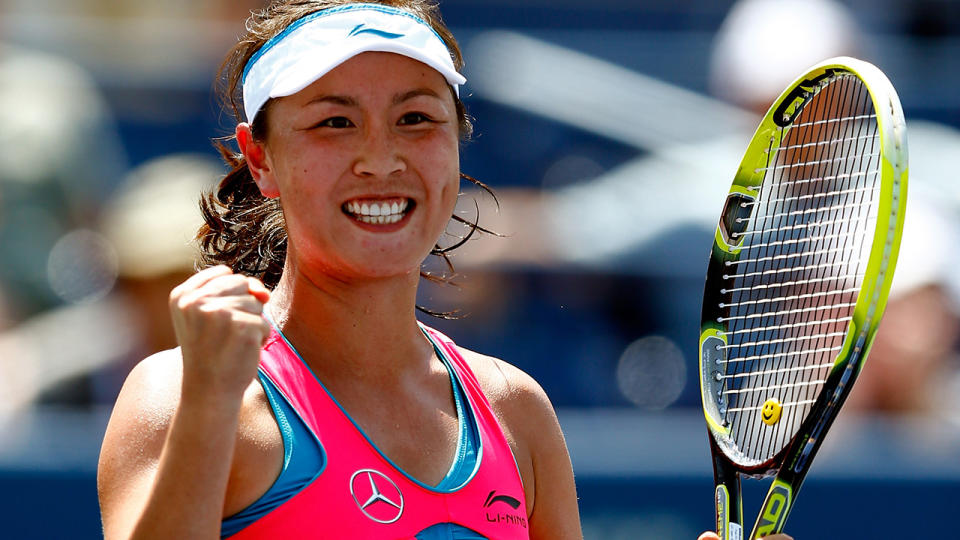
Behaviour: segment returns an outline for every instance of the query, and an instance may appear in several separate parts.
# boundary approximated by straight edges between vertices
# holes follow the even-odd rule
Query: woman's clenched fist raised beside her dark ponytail
[[[263,305],[270,291],[226,266],[207,268],[170,293],[170,313],[183,355],[184,388],[240,396],[257,372],[270,333]]]

